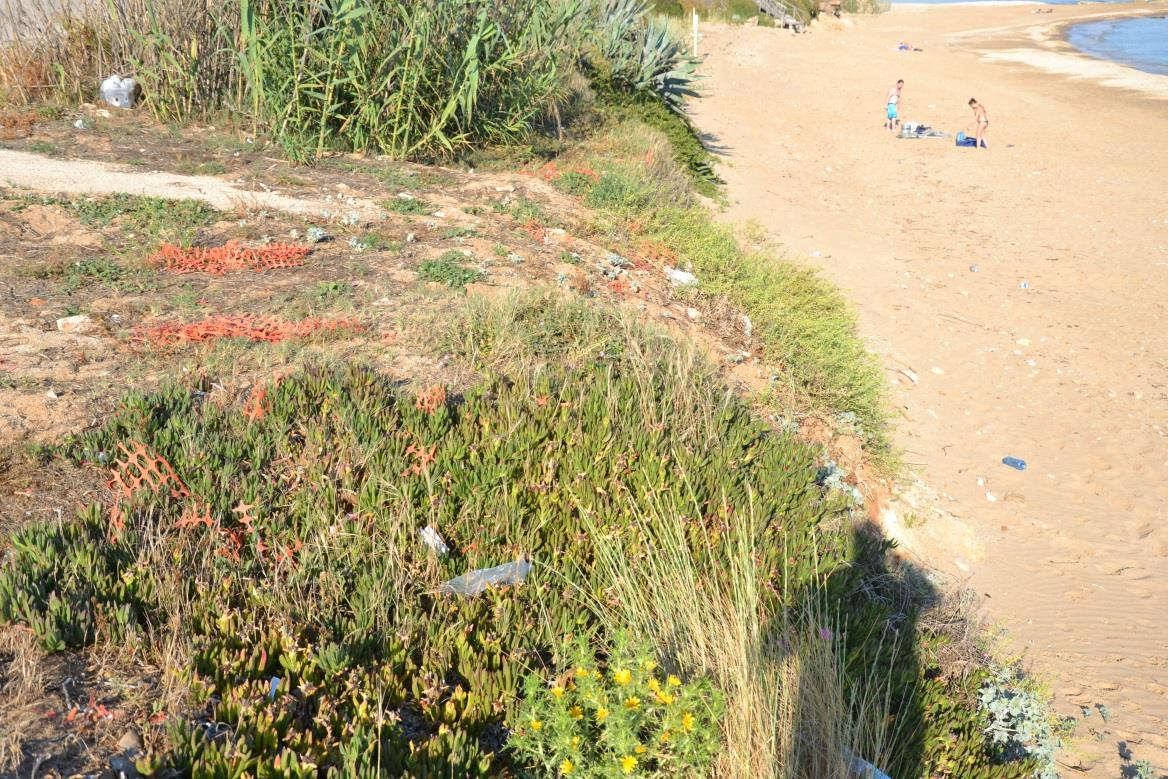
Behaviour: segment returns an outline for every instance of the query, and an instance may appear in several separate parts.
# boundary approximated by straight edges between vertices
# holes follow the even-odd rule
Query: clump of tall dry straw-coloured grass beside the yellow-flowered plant
[[[846,669],[840,604],[825,593],[797,597],[786,580],[774,592],[757,564],[763,519],[753,510],[715,540],[683,519],[701,507],[659,503],[633,520],[633,534],[651,549],[637,561],[619,533],[582,515],[609,585],[599,610],[610,630],[644,637],[667,663],[711,677],[724,695],[714,775],[849,779],[854,756],[883,764],[892,740],[887,680]],[[694,543],[710,554],[693,554]]]

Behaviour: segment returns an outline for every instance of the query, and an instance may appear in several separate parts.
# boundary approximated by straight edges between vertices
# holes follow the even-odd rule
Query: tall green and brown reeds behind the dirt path
[[[229,111],[293,157],[449,155],[514,140],[556,98],[579,0],[21,0],[0,51],[8,100],[92,100],[137,77],[160,119]]]

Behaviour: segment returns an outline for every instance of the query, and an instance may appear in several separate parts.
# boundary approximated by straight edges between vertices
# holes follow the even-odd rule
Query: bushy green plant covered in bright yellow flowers
[[[625,635],[602,659],[577,639],[556,676],[527,676],[509,745],[548,777],[701,777],[718,749],[721,710],[708,680],[662,672]]]

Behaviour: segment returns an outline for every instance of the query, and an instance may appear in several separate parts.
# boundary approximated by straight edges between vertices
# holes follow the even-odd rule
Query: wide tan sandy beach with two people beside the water
[[[1124,745],[1168,771],[1168,77],[1050,39],[1098,6],[1036,8],[711,26],[695,119],[726,218],[855,300],[905,458],[967,536],[916,551],[983,596],[1063,714],[1110,711],[1064,777],[1118,775]],[[990,149],[890,137],[897,78],[902,116],[951,134],[981,100]]]

